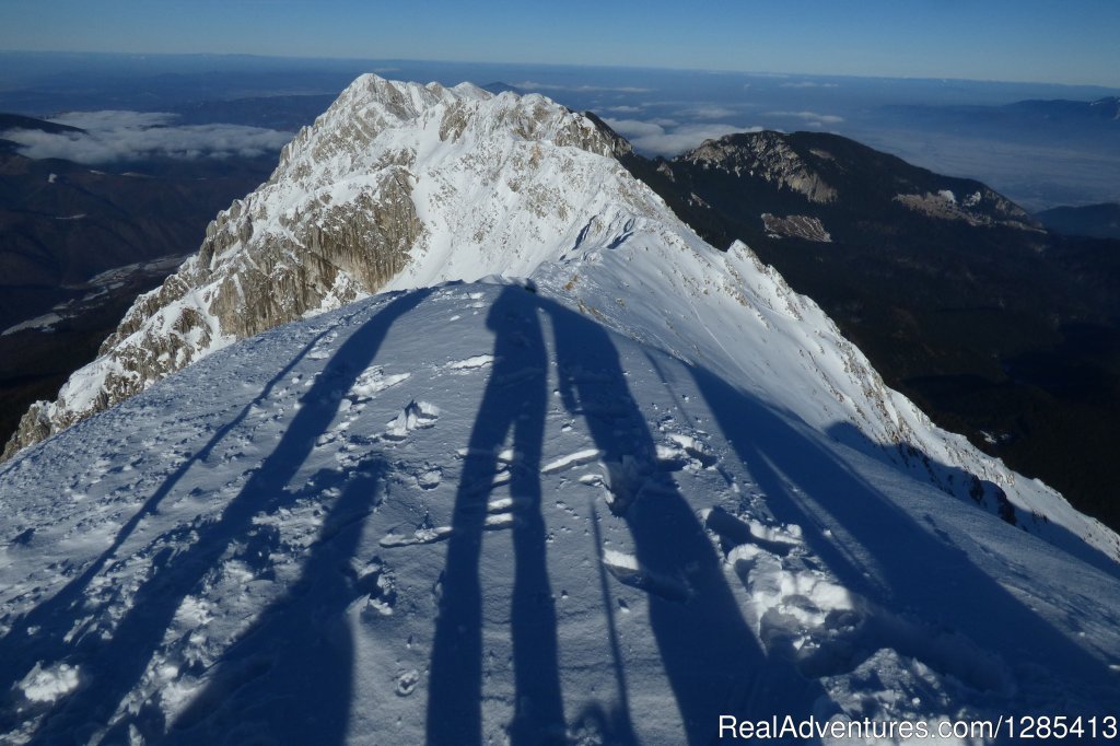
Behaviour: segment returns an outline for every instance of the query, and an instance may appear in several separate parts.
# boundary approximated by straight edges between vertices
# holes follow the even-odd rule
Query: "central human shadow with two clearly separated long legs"
[[[432,642],[427,733],[429,744],[482,743],[482,558],[487,504],[513,433],[507,463],[513,500],[514,658],[513,744],[563,743],[563,705],[557,663],[556,600],[545,560],[541,514],[548,352],[534,297],[506,287],[487,325],[495,332],[494,365],[470,431],[451,514],[446,569]]]

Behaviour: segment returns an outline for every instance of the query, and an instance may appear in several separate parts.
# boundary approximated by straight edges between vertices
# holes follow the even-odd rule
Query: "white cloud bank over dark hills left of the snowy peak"
[[[78,164],[111,164],[151,158],[252,158],[273,153],[290,132],[241,124],[176,125],[177,114],[137,111],[83,111],[55,118],[84,132],[9,130],[3,139],[19,143],[28,158],[62,158]]]

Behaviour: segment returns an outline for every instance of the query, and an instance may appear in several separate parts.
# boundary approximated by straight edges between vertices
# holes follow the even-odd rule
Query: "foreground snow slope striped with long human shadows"
[[[0,731],[699,744],[720,714],[1120,701],[1114,575],[778,405],[795,374],[685,364],[633,307],[609,330],[605,299],[379,296],[0,467]],[[791,309],[756,308],[744,364],[788,363]]]

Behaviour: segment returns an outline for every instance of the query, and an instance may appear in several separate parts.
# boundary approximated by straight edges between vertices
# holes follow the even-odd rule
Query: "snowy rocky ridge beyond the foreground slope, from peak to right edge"
[[[1113,532],[889,390],[748,248],[703,243],[612,157],[617,147],[540,95],[363,76],[284,149],[267,184],[218,216],[197,257],[137,301],[59,400],[32,408],[19,442],[234,339],[363,295],[532,277],[969,505],[1075,554],[1120,558]]]

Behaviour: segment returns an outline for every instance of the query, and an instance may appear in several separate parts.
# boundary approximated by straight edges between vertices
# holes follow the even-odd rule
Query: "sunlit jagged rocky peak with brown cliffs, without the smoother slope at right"
[[[528,274],[558,234],[575,242],[606,227],[592,207],[601,164],[614,161],[591,156],[623,147],[540,95],[360,77],[283,149],[268,183],[211,223],[196,257],[137,299],[58,400],[31,407],[3,457],[235,339],[393,278]]]

